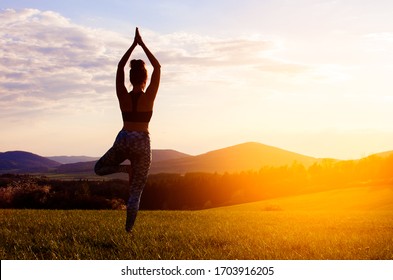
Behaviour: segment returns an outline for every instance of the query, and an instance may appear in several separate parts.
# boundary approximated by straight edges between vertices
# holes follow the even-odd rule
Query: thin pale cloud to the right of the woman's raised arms
[[[281,46],[271,39],[173,33],[156,41],[161,49],[157,54],[165,64],[164,83],[252,83],[266,73],[289,76],[305,74],[312,68],[275,57]]]

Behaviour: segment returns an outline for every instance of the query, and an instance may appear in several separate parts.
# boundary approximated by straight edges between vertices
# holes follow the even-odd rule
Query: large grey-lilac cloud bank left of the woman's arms
[[[58,112],[52,106],[57,102],[72,100],[63,103],[66,109],[109,98],[117,59],[110,48],[119,49],[121,36],[75,25],[50,11],[0,13],[2,116],[52,107]]]

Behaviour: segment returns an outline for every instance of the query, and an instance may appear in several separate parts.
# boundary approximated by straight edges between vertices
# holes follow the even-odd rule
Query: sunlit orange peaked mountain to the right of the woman
[[[309,166],[318,159],[255,142],[243,143],[198,156],[152,164],[151,173],[239,172],[293,162]]]

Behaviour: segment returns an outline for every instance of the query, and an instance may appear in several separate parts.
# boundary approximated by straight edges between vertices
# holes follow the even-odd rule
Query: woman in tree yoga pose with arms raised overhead
[[[147,82],[147,69],[142,60],[131,60],[130,81],[132,90],[128,92],[124,85],[124,67],[135,47],[142,47],[153,65],[150,84]],[[120,59],[116,73],[116,94],[123,117],[123,128],[105,155],[98,160],[94,171],[103,176],[125,172],[129,174],[130,193],[127,202],[126,231],[131,232],[139,209],[140,198],[147,181],[151,164],[149,122],[153,114],[154,99],[160,84],[161,65],[142,41],[138,28],[131,47]],[[126,159],[131,165],[122,165]]]

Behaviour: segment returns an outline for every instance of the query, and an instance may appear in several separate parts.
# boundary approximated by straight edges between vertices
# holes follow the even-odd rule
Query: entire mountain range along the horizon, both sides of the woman
[[[389,155],[384,152],[377,155]],[[189,172],[239,172],[294,162],[310,166],[321,160],[256,142],[247,142],[191,156],[175,150],[153,150],[150,174]],[[94,175],[95,157],[42,157],[25,151],[0,153],[0,174],[53,173]]]

